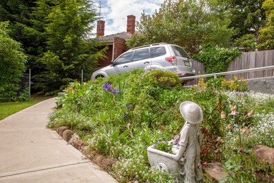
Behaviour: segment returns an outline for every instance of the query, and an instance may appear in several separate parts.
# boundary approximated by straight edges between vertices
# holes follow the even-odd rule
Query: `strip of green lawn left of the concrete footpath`
[[[28,101],[11,101],[0,103],[0,120],[49,98],[50,97],[34,96]]]

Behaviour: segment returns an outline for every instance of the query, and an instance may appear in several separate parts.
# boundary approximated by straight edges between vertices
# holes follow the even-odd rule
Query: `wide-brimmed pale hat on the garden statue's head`
[[[198,124],[203,121],[203,111],[197,103],[184,101],[180,104],[180,112],[188,123]]]

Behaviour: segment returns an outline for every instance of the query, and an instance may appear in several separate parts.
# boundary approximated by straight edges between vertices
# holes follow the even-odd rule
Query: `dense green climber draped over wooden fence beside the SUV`
[[[207,74],[227,71],[229,62],[232,62],[241,52],[236,49],[216,48],[212,44],[205,45],[203,51],[193,56],[204,64]]]

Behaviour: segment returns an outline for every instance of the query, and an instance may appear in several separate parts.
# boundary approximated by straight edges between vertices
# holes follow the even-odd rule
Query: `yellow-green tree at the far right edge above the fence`
[[[266,10],[266,26],[260,29],[259,48],[274,49],[274,1],[264,1],[262,8]]]

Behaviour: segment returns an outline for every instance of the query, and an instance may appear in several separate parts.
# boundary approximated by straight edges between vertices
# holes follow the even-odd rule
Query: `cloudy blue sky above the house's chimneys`
[[[99,0],[94,2],[99,13]],[[101,0],[101,20],[105,21],[105,36],[127,32],[127,15],[134,15],[136,21],[139,21],[143,10],[145,14],[153,14],[163,2],[164,0]],[[93,33],[96,33],[96,27]]]

